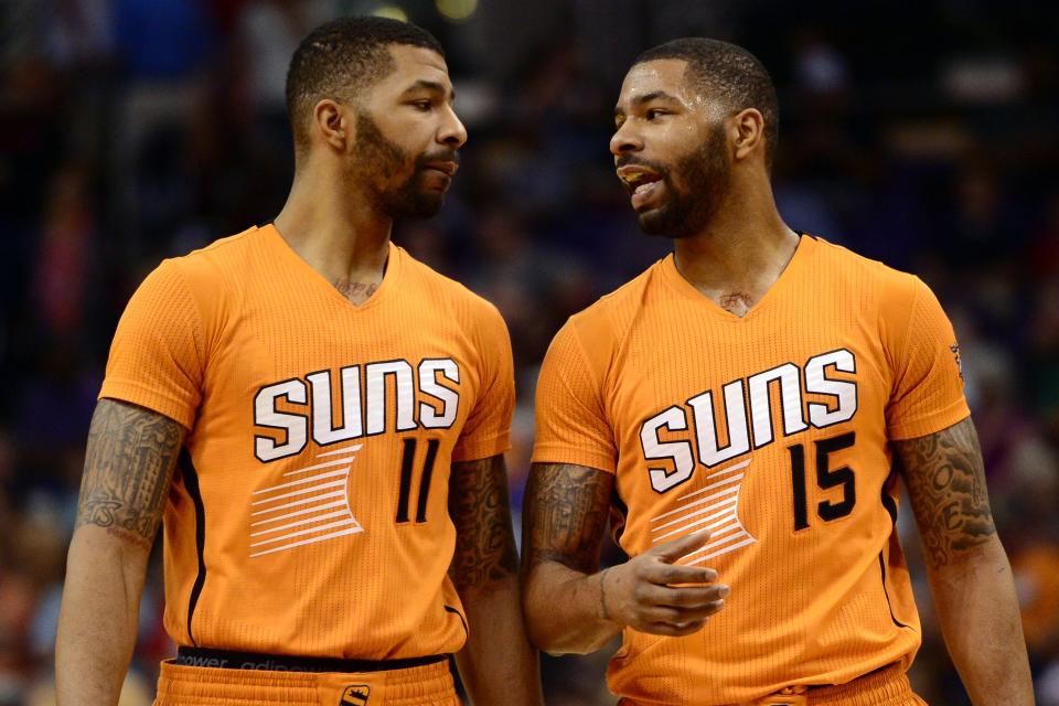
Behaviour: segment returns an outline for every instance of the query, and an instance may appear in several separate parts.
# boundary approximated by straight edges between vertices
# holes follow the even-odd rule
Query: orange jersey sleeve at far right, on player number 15
[[[934,293],[913,278],[903,336],[898,344],[894,383],[886,409],[890,439],[934,434],[966,418],[960,345]],[[906,302],[908,300],[906,299]]]

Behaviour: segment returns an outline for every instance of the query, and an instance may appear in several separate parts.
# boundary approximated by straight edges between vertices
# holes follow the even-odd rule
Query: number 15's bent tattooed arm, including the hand
[[[724,607],[728,588],[709,568],[675,561],[709,539],[700,532],[599,571],[614,477],[534,463],[523,514],[523,605],[534,644],[550,653],[595,652],[622,628],[687,635]],[[674,585],[682,585],[680,588]]]

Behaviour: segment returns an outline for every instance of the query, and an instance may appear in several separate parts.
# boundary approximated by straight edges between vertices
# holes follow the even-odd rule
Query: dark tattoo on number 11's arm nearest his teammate
[[[461,596],[488,591],[494,582],[517,575],[503,456],[452,464],[449,516],[456,524],[449,578]]]

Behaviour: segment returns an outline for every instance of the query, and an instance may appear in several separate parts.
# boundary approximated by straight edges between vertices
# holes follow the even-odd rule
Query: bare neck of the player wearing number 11
[[[291,249],[351,299],[344,289],[374,291],[382,282],[393,221],[341,174],[309,165],[296,172],[275,225]]]

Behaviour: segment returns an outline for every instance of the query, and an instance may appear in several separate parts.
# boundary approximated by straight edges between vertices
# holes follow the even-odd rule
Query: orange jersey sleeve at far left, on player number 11
[[[175,261],[148,275],[118,322],[99,397],[120,399],[188,429],[202,399],[203,332]]]

